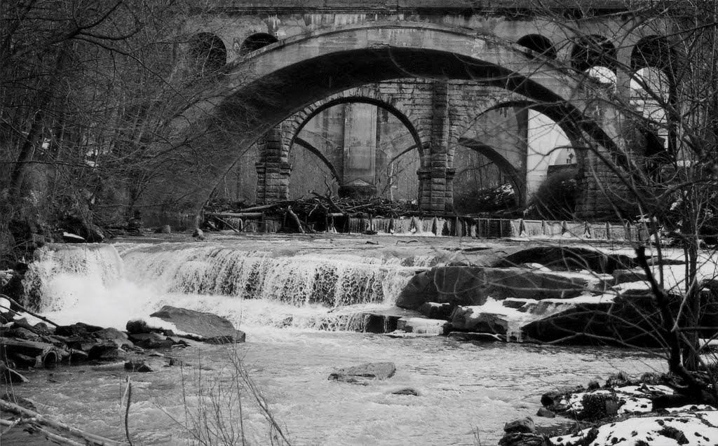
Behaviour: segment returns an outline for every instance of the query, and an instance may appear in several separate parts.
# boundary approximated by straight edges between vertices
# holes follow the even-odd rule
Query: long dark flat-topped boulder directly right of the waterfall
[[[488,298],[574,298],[592,284],[589,275],[524,268],[434,267],[411,277],[396,305],[418,310],[428,302],[483,305]]]

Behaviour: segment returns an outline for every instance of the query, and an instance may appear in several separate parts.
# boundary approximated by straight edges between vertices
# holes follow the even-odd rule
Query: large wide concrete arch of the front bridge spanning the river
[[[342,90],[406,77],[480,80],[551,104],[601,146],[615,148],[620,139],[621,114],[606,93],[559,62],[470,30],[376,22],[292,37],[230,64],[205,87],[205,100],[174,121],[180,143],[157,157],[163,174],[149,199],[199,210],[236,151],[282,120]],[[431,151],[424,200],[439,209],[447,192],[447,148]]]

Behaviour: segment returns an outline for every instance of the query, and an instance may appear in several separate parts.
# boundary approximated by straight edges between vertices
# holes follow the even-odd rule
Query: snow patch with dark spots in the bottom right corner
[[[715,446],[718,411],[630,418],[573,435],[552,437],[551,442],[557,446]]]

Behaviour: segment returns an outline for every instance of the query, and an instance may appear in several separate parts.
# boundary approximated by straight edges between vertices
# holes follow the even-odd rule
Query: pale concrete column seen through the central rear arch
[[[344,120],[344,158],[340,196],[376,195],[376,106],[348,104]]]

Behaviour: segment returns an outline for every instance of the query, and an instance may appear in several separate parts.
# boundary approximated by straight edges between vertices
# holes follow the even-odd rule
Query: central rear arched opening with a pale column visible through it
[[[328,184],[340,196],[415,201],[421,161],[419,150],[407,150],[416,149],[416,131],[407,122],[370,98],[337,98],[315,109],[292,139],[290,196],[325,193]]]

